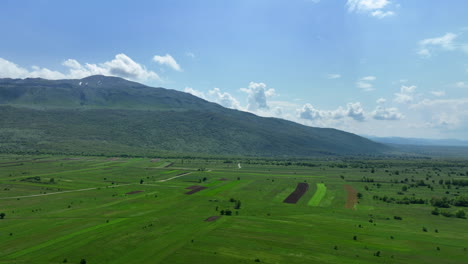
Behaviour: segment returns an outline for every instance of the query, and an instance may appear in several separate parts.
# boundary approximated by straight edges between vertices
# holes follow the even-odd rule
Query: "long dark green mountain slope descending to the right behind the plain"
[[[388,147],[116,77],[0,79],[0,151],[317,156]]]

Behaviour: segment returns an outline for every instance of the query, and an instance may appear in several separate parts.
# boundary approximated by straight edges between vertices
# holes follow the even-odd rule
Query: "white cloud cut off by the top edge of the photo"
[[[388,0],[348,0],[349,12],[368,14],[379,19],[393,16],[395,12],[387,10],[391,2]]]

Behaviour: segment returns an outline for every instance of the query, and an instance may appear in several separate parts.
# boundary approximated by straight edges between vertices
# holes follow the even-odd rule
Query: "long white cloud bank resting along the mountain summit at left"
[[[9,78],[45,78],[45,79],[80,79],[90,75],[102,74],[118,76],[131,80],[146,81],[160,80],[158,74],[147,70],[141,64],[133,61],[127,55],[117,54],[111,61],[99,64],[80,64],[74,59],[68,59],[62,63],[67,72],[49,70],[38,66],[32,66],[30,70],[20,67],[13,62],[0,58],[0,77]]]

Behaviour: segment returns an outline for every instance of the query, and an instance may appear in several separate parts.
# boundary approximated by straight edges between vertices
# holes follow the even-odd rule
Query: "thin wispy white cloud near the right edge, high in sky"
[[[464,50],[464,45],[460,46],[455,43],[455,39],[457,37],[457,34],[448,32],[441,37],[423,39],[419,42],[419,49],[417,53],[421,57],[429,58],[437,49],[452,51],[460,48],[461,50]]]

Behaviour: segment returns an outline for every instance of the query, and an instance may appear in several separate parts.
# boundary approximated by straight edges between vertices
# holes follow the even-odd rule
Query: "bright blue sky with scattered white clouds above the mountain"
[[[468,139],[464,0],[22,1],[0,77],[125,77],[374,136]]]

